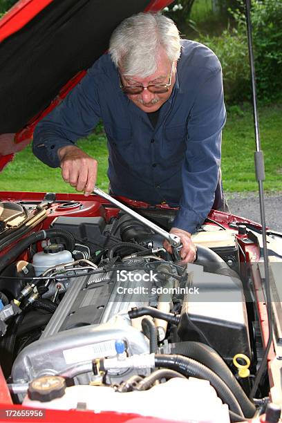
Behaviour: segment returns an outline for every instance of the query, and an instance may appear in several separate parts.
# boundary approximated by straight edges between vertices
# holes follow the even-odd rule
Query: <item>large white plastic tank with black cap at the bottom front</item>
[[[55,393],[50,393],[51,384],[46,380],[44,387],[37,383],[42,377],[35,379],[30,384],[35,389],[30,395],[29,388],[23,406],[70,410],[82,402],[86,404],[86,410],[95,413],[134,413],[182,423],[230,423],[227,404],[223,404],[215,389],[203,379],[175,377],[148,391],[120,393],[110,386],[75,385],[63,390],[60,381],[57,384],[53,382],[54,376],[46,378],[52,379]],[[42,391],[48,391],[48,396],[45,393],[42,395]],[[53,400],[48,401],[48,397]]]

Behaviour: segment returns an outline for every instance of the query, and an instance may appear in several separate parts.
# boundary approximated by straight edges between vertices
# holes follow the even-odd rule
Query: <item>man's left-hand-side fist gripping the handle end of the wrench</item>
[[[59,149],[58,156],[64,181],[77,191],[84,191],[84,196],[90,195],[97,178],[97,160],[72,145]]]

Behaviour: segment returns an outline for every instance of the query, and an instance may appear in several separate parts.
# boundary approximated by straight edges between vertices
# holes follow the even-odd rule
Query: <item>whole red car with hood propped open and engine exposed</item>
[[[0,170],[120,21],[169,3],[19,1],[0,20]],[[0,422],[279,421],[282,234],[263,212],[260,225],[211,210],[184,267],[167,204],[100,189],[0,199]]]

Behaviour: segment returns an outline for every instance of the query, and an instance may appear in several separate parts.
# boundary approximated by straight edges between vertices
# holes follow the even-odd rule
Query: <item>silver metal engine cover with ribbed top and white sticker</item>
[[[142,270],[136,271],[144,273]],[[144,288],[152,282],[144,278]],[[118,281],[113,272],[75,278],[38,341],[24,348],[12,367],[14,382],[41,375],[64,373],[70,367],[88,363],[77,376],[78,383],[88,383],[91,361],[116,354],[115,341],[123,339],[129,355],[149,352],[149,341],[133,327],[127,312],[133,307],[148,306],[146,296],[118,294],[118,287],[132,287],[132,281]],[[135,321],[133,321],[135,323]],[[113,375],[115,377],[115,375]]]

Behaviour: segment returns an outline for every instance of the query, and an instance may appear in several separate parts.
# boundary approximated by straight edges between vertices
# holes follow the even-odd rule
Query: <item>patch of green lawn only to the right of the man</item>
[[[282,191],[282,105],[259,108],[265,191]],[[223,131],[222,170],[225,191],[256,191],[254,124],[250,107],[243,116],[227,114]]]

